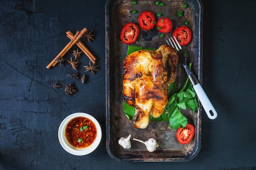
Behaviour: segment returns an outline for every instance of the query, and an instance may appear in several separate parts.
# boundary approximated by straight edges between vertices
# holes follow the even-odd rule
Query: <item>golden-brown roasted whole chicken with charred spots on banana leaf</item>
[[[168,102],[168,84],[175,81],[178,66],[177,53],[168,45],[156,51],[135,51],[126,57],[123,97],[129,106],[135,107],[135,128],[146,128],[150,115],[162,115]]]

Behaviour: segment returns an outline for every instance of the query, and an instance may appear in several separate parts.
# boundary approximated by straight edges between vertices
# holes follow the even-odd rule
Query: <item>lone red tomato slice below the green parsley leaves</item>
[[[195,134],[195,127],[191,124],[187,124],[185,128],[179,128],[176,134],[177,140],[185,145],[188,144]]]

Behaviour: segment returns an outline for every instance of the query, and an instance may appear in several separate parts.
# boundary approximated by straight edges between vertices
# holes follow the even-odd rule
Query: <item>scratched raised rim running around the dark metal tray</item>
[[[169,159],[124,159],[124,158],[120,158],[115,156],[115,154],[112,152],[112,150],[110,149],[110,91],[109,91],[109,83],[110,83],[110,69],[109,69],[109,51],[110,51],[110,43],[109,43],[109,16],[108,16],[108,4],[109,2],[112,0],[107,0],[106,1],[106,5],[105,5],[105,22],[106,22],[106,150],[108,152],[108,155],[110,155],[110,157],[112,159],[115,159],[116,161],[119,162],[124,162],[124,161],[131,161],[131,162],[148,162],[148,161],[190,161],[192,159],[194,159],[198,153],[200,152],[201,149],[201,126],[200,129],[198,129],[198,144],[196,145],[197,148],[196,150],[193,152],[192,155],[190,155],[187,158],[169,158]],[[198,79],[200,82],[202,82],[202,13],[203,13],[203,5],[201,0],[195,0],[196,2],[198,2],[199,8],[200,8],[200,17],[199,17],[199,28],[200,28],[200,33],[199,33],[199,66],[200,68],[198,68]],[[199,102],[199,106],[198,106],[198,124],[201,125],[201,114],[202,114],[202,105]],[[199,126],[198,126],[199,128]]]

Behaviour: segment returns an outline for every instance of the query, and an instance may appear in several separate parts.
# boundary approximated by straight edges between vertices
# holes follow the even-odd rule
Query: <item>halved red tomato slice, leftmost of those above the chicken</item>
[[[134,43],[139,35],[139,26],[137,26],[133,22],[129,22],[124,25],[123,29],[121,30],[120,39],[125,44],[132,44]]]

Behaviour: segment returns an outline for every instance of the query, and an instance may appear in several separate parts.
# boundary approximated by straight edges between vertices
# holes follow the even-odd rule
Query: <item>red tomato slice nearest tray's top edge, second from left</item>
[[[155,26],[155,15],[150,11],[143,11],[139,14],[139,26],[141,29],[150,30]]]

